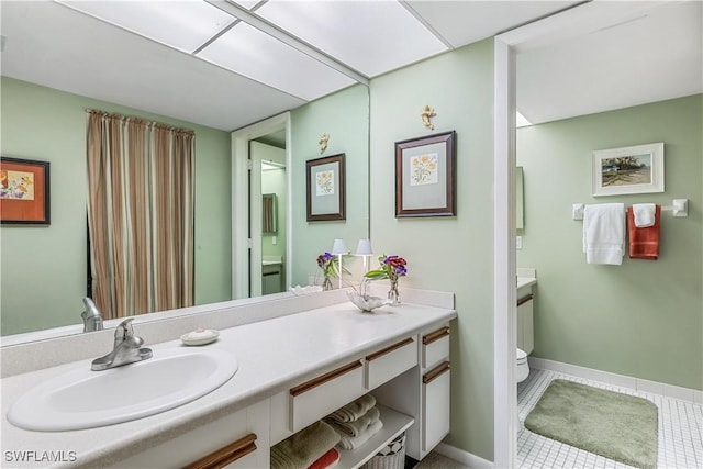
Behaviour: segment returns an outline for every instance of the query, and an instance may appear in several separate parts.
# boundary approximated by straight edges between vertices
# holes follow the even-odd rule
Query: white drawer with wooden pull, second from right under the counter
[[[366,356],[366,389],[373,389],[417,365],[417,345],[412,337]]]

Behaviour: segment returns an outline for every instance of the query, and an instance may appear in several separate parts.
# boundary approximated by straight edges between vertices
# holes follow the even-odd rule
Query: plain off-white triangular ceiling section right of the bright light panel
[[[405,1],[453,47],[460,47],[580,1]]]

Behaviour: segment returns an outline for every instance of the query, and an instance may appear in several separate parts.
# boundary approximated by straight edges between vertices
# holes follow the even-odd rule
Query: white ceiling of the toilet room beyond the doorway
[[[588,33],[518,53],[520,111],[542,123],[703,92],[702,4],[601,16]]]

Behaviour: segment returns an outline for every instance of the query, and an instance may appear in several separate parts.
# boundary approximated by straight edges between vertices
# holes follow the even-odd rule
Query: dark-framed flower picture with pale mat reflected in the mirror
[[[346,220],[344,153],[305,161],[308,221]]]

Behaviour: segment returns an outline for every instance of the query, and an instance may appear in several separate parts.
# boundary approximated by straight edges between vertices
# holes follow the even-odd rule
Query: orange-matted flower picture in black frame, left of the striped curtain
[[[48,161],[0,157],[0,223],[51,223],[48,169]]]

